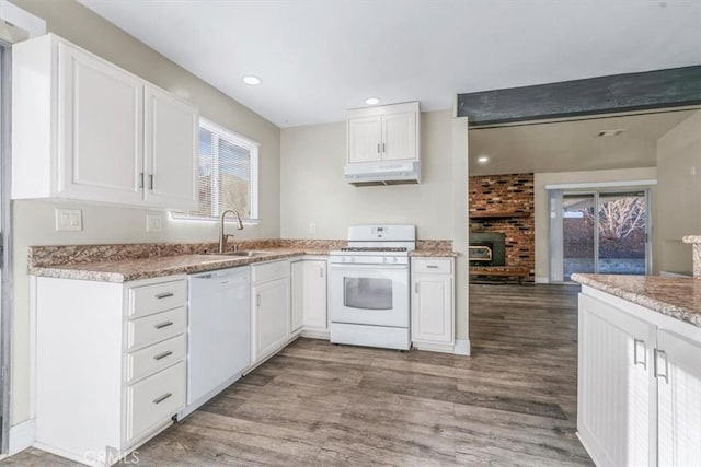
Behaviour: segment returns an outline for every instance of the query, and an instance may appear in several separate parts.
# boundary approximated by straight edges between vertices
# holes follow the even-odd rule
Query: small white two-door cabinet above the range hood
[[[418,161],[418,103],[348,112],[347,163]]]

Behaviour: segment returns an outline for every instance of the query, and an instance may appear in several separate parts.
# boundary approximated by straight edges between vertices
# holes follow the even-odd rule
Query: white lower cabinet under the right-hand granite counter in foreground
[[[701,465],[701,328],[583,287],[577,431],[598,466]]]

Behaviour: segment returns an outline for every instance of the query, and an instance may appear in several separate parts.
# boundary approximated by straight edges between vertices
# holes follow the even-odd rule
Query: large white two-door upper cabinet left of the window
[[[12,59],[13,199],[196,207],[196,107],[53,34]]]

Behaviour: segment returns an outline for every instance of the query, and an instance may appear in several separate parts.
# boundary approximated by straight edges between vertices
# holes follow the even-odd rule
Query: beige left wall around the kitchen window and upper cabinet
[[[73,0],[12,0],[46,20],[49,32],[195,103],[200,114],[261,143],[261,224],[237,232],[242,238],[279,236],[279,128],[227,97]],[[186,38],[183,38],[186,40]],[[108,206],[70,203],[83,210],[82,232],[55,232],[54,208],[19,201],[14,210],[14,315],[12,323],[12,424],[33,416],[30,404],[30,305],[26,247],[50,244],[95,244],[160,241],[214,241],[215,223],[169,221],[160,234],[146,233],[146,212]]]

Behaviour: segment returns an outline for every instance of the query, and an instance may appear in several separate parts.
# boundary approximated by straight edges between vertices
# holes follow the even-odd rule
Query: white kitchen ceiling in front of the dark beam
[[[701,0],[79,1],[280,127],[701,63]]]

